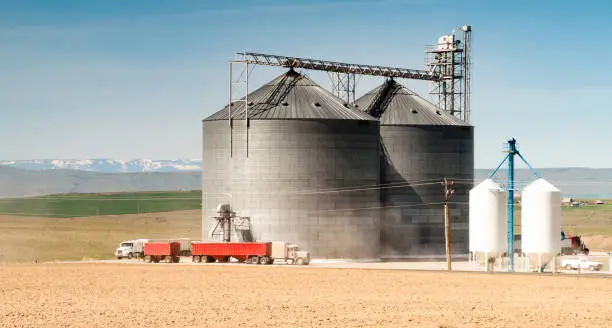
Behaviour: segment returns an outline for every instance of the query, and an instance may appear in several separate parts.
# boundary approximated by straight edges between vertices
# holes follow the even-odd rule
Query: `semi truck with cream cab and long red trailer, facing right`
[[[288,264],[308,265],[310,253],[286,242],[192,242],[192,261],[196,263],[229,262],[231,258],[249,264],[272,264],[276,260]]]

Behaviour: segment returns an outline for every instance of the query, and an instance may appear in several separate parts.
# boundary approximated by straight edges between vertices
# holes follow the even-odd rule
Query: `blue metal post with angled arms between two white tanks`
[[[508,161],[508,271],[514,271],[514,156],[518,155],[519,158],[529,167],[529,169],[535,174],[537,178],[541,178],[540,174],[527,162],[525,157],[516,148],[516,139],[512,138],[508,140],[508,155],[504,157],[504,160],[499,163],[497,168],[489,175],[489,178],[493,178],[495,173],[501,168],[501,166]]]

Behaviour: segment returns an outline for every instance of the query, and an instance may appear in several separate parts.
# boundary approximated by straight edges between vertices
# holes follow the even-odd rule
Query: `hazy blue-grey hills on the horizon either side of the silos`
[[[183,171],[96,172],[69,168],[33,170],[0,165],[0,197],[25,197],[66,193],[142,192],[201,190],[201,169]],[[200,162],[201,164],[201,162]],[[180,164],[179,164],[180,165]],[[564,196],[612,198],[612,168],[536,169],[545,179],[561,189]],[[474,170],[476,183],[493,170]],[[496,180],[505,184],[507,172],[501,169]],[[518,189],[535,179],[529,169],[517,169]],[[604,197],[605,196],[605,197]]]

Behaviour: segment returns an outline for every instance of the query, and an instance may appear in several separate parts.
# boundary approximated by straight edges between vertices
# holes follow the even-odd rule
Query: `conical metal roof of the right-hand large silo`
[[[363,95],[355,106],[381,125],[470,126],[392,79]]]

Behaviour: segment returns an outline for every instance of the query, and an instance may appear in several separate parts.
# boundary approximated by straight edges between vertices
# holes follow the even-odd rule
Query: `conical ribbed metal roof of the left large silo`
[[[331,92],[290,69],[248,95],[249,119],[376,119],[358,109],[347,108]],[[232,119],[245,118],[244,101],[232,103]],[[228,106],[204,119],[227,120]]]

